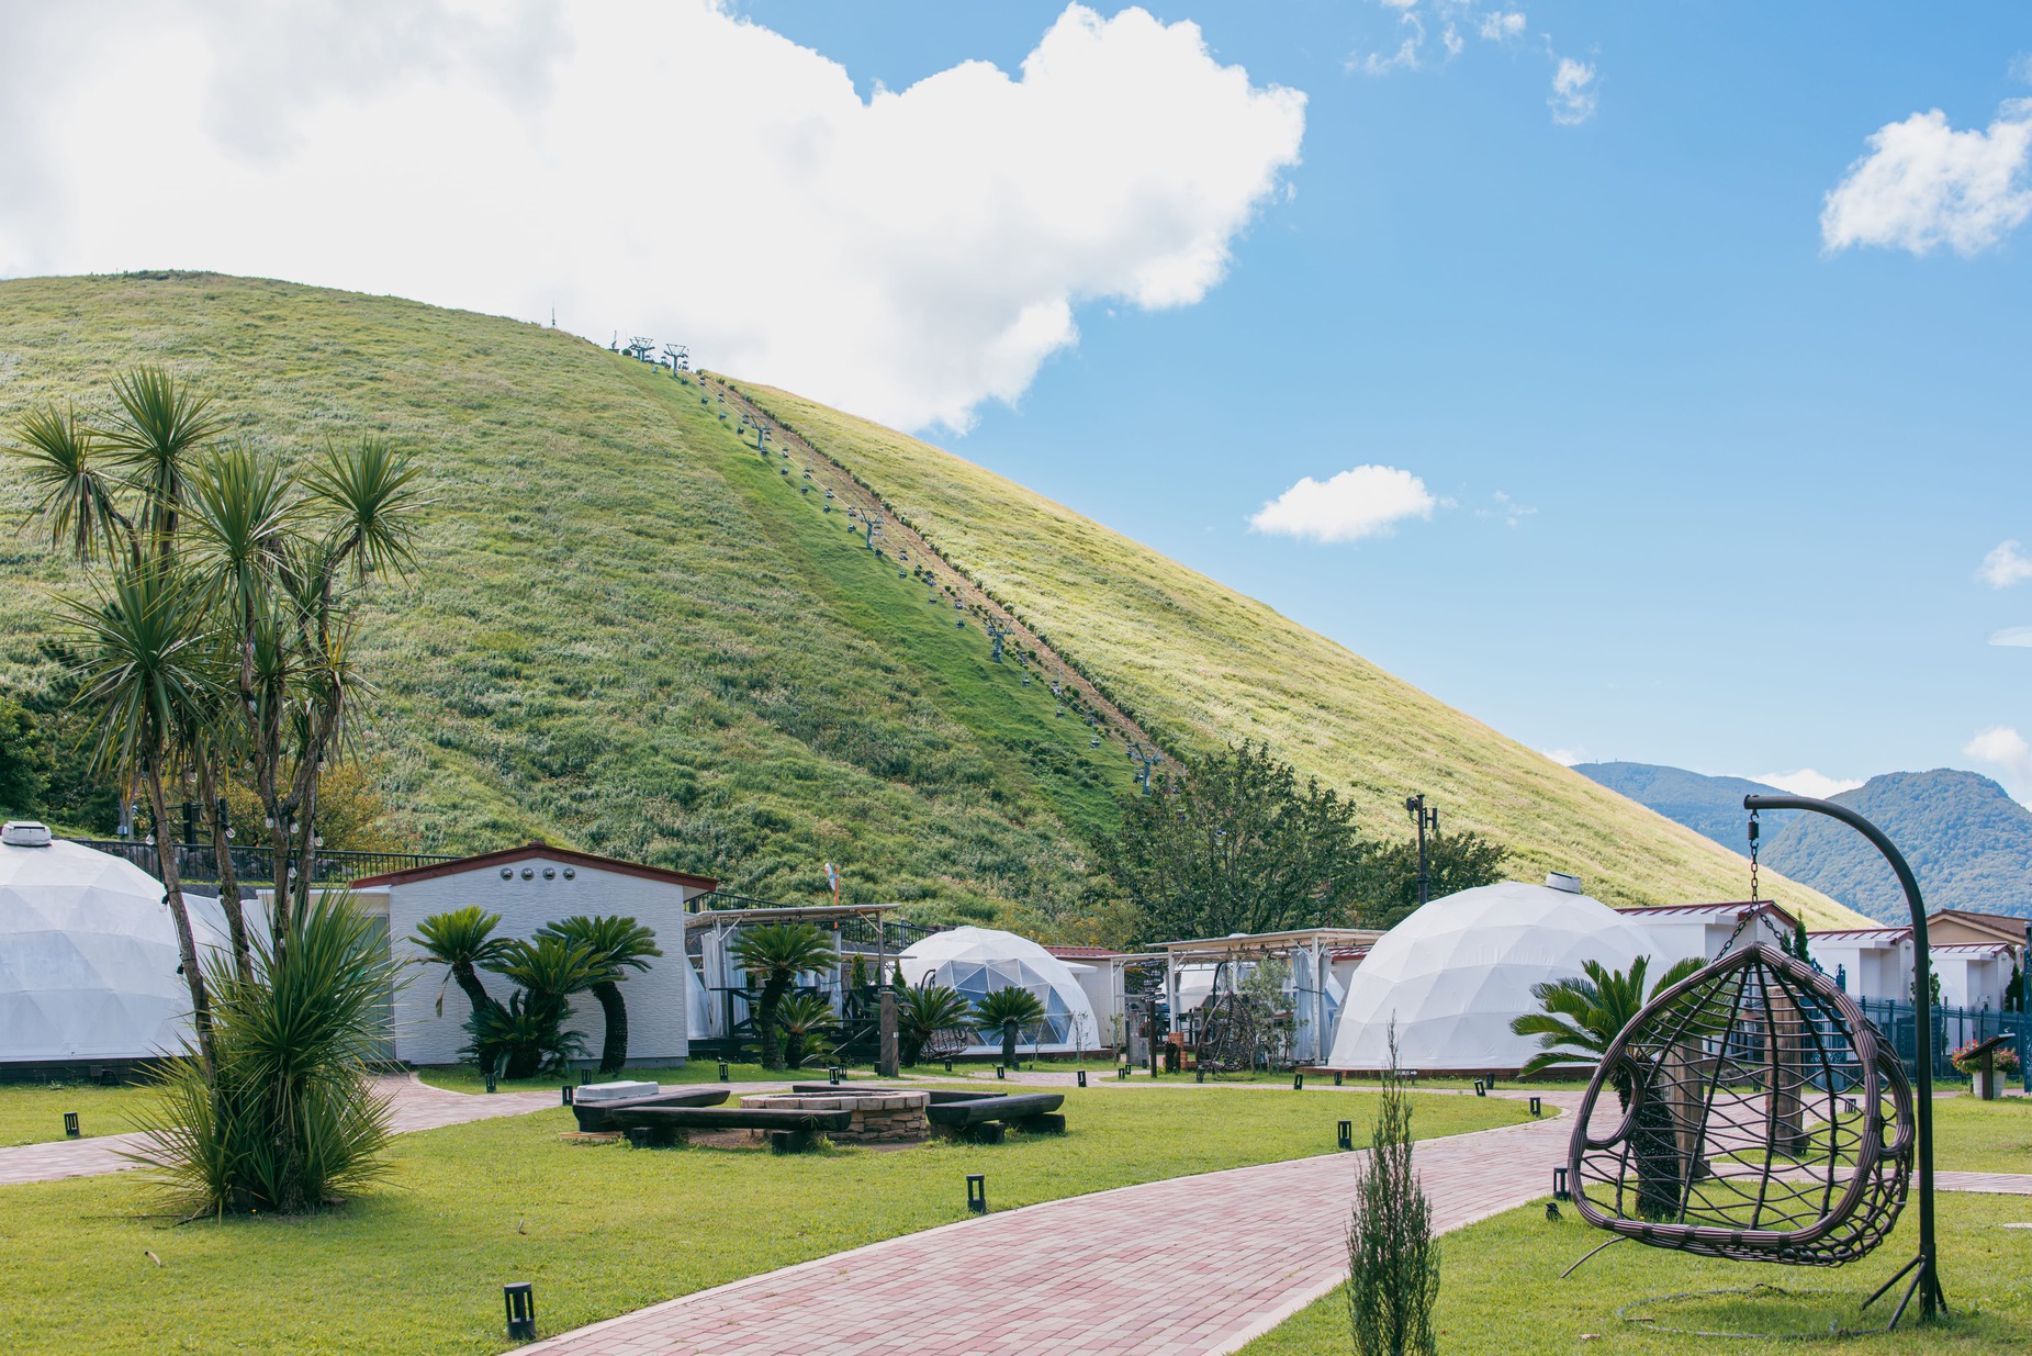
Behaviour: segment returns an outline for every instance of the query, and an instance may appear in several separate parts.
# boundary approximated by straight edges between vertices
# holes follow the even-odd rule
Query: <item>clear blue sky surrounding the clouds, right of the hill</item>
[[[1014,69],[1061,6],[746,6],[868,91]],[[1526,41],[1372,75],[1384,4],[1156,4],[1307,96],[1294,195],[1205,301],[1089,305],[1014,409],[935,435],[1323,630],[1496,728],[1587,758],[2032,793],[2032,230],[1973,256],[1829,254],[1865,140],[1985,128],[2032,10],[1524,4]],[[1103,12],[1112,12],[1105,10]],[[1550,45],[1595,69],[1548,110]],[[1363,464],[1445,506],[1315,543],[1248,518]],[[1504,498],[1500,498],[1504,496]]]

